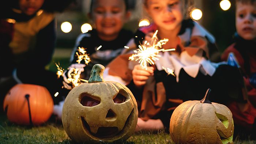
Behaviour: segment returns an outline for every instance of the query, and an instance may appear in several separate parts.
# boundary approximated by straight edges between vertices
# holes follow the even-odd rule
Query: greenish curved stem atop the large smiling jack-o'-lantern
[[[88,83],[97,83],[97,82],[105,82],[103,79],[103,72],[105,67],[101,64],[95,64],[91,69],[91,75],[88,80]]]

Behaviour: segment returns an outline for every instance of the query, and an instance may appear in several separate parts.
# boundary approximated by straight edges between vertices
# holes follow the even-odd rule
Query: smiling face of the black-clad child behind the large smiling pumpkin
[[[124,0],[94,0],[91,19],[99,35],[117,35],[128,18]]]

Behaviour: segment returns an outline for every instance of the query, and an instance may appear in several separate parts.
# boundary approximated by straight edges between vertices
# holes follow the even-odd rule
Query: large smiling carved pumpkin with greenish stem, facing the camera
[[[62,122],[78,143],[105,143],[128,139],[138,120],[137,103],[123,84],[104,82],[105,67],[93,66],[88,83],[74,87],[65,99]]]

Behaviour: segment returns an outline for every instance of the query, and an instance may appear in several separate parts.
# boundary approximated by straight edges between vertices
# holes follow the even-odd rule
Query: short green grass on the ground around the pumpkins
[[[167,144],[169,134],[159,132],[140,132],[132,135],[124,144]],[[19,126],[10,123],[7,117],[0,118],[0,144],[73,144],[67,136],[61,122],[53,118],[41,126]]]

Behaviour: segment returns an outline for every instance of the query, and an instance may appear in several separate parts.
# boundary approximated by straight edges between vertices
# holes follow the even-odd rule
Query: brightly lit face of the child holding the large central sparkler
[[[183,20],[181,0],[147,0],[146,11],[158,27],[174,30]]]

